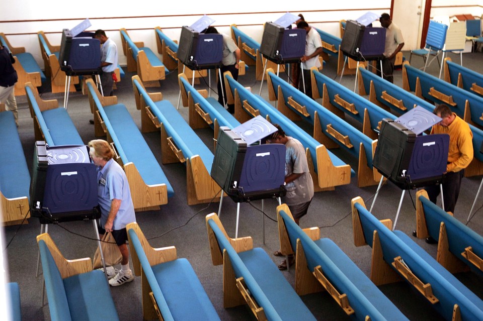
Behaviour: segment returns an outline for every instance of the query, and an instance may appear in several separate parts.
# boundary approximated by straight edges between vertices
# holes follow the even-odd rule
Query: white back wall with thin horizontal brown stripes
[[[394,0],[394,8],[408,8],[412,3],[421,4],[424,0]],[[82,3],[82,5],[81,5]],[[340,36],[339,21],[342,19],[356,19],[367,11],[381,14],[389,13],[391,0],[373,0],[361,2],[357,0],[347,0],[345,2],[286,2],[283,11],[274,12],[271,2],[245,1],[243,7],[233,6],[232,3],[217,2],[215,6],[200,6],[199,1],[187,0],[183,3],[169,2],[150,2],[138,0],[133,2],[137,6],[121,5],[116,3],[114,6],[106,4],[102,0],[85,0],[75,4],[74,7],[63,8],[66,2],[61,0],[32,1],[17,0],[14,2],[0,2],[0,32],[7,35],[14,47],[25,47],[32,53],[38,63],[42,66],[43,61],[40,56],[37,32],[42,30],[47,34],[47,38],[53,45],[60,44],[61,30],[72,28],[85,18],[90,18],[92,27],[90,31],[96,29],[106,30],[118,49],[121,51],[121,38],[119,28],[126,28],[134,41],[144,42],[144,46],[156,52],[156,41],[153,28],[160,26],[163,31],[172,39],[179,39],[180,28],[183,25],[191,25],[203,14],[207,14],[213,19],[213,24],[220,32],[229,34],[229,25],[236,24],[240,30],[244,31],[257,41],[262,38],[262,24],[266,21],[274,21],[285,11],[294,14],[302,13],[309,23],[315,27],[323,29],[331,34]],[[181,5],[182,4],[182,5]],[[315,5],[314,5],[315,4]],[[466,8],[446,8],[435,9],[433,15],[441,15],[451,12],[450,15],[459,13],[483,13],[483,0],[433,0],[433,6],[450,6],[451,4],[468,5]],[[399,7],[397,7],[399,5]],[[478,7],[479,6],[479,7]],[[255,12],[255,13],[250,13]],[[406,10],[398,9],[399,13]],[[419,26],[406,24],[406,18],[394,12],[394,21],[403,30],[404,35],[418,34]],[[412,41],[414,42],[414,41]],[[414,49],[414,45],[406,45],[405,49]],[[119,60],[121,65],[125,65],[126,57],[120,52]]]

